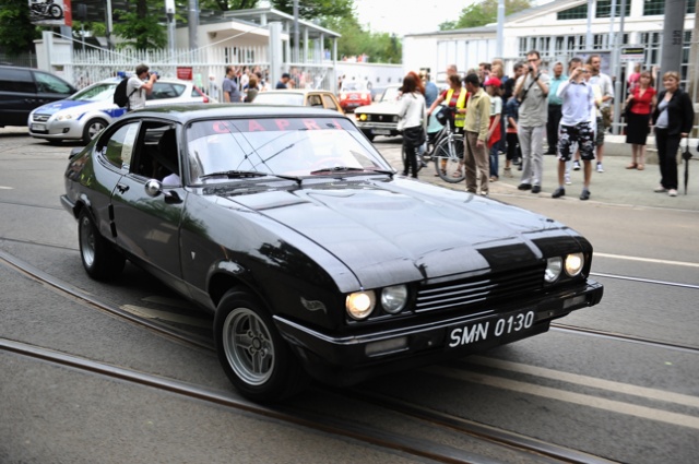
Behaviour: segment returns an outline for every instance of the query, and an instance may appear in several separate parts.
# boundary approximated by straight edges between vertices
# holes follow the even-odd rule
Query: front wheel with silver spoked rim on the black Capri
[[[234,288],[221,299],[214,337],[226,376],[251,400],[282,400],[308,382],[263,306],[247,292]]]

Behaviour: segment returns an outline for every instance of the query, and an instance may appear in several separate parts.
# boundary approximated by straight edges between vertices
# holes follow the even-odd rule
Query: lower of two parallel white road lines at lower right
[[[642,419],[655,420],[660,423],[671,424],[673,426],[680,426],[699,430],[699,417],[692,417],[677,413],[668,413],[666,411],[654,409],[652,407],[637,406],[619,401],[605,400],[581,393],[566,392],[549,386],[535,385],[533,383],[525,383],[517,380],[485,376],[476,372],[455,371],[446,367],[435,366],[424,369],[424,371],[437,376],[463,380],[471,383],[481,383],[484,385],[495,386],[497,389],[510,390],[513,392],[525,393],[533,396],[542,396],[547,400],[558,400],[567,403],[579,404],[581,406],[594,407],[597,409],[640,417]]]

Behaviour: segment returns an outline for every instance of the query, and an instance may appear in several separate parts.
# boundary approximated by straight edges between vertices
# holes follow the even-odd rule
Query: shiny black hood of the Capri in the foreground
[[[365,288],[540,263],[532,241],[566,236],[546,217],[405,179],[341,181],[230,200],[309,238]]]

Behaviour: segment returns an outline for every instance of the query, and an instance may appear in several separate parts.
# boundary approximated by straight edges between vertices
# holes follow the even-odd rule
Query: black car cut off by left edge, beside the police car
[[[26,126],[34,108],[75,92],[75,87],[51,73],[0,66],[0,127]]]

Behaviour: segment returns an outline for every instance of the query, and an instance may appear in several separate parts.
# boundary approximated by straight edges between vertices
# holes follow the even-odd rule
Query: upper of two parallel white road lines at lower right
[[[496,369],[509,370],[511,372],[526,373],[530,376],[542,377],[544,379],[561,380],[564,382],[576,383],[578,385],[592,386],[593,389],[608,390],[611,392],[618,392],[649,400],[676,403],[683,406],[699,407],[699,397],[684,395],[682,393],[672,393],[662,390],[648,389],[645,386],[636,386],[628,383],[614,382],[612,380],[580,376],[578,373],[561,372],[559,370],[547,369],[544,367],[485,358],[483,356],[470,356],[466,358],[466,361],[475,362],[481,366],[494,367]]]

